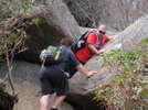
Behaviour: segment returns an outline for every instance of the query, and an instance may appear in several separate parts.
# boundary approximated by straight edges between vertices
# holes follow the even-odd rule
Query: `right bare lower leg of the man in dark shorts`
[[[65,99],[65,97],[66,96],[57,96],[57,97],[55,97],[52,108],[57,109],[57,107]]]

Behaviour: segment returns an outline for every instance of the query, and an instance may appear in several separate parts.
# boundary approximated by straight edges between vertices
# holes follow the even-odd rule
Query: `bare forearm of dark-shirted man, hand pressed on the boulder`
[[[84,66],[83,66],[82,64],[77,65],[77,66],[76,66],[76,69],[77,69],[78,72],[81,72],[83,75],[87,76],[87,77],[97,74],[96,70],[87,72],[87,70],[84,68]]]

